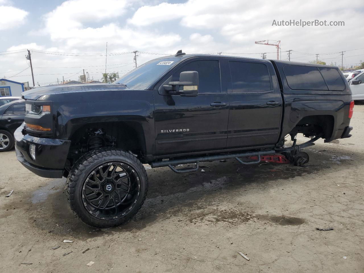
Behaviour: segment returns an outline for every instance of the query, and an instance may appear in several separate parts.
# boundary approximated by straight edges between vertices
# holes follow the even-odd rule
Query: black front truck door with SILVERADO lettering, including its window
[[[179,81],[183,71],[197,71],[198,96],[161,95],[159,86]],[[225,149],[229,100],[218,57],[185,60],[154,88],[157,155]]]

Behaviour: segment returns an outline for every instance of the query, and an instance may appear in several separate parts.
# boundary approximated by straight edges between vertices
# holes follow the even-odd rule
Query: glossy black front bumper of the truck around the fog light
[[[19,162],[33,173],[48,178],[61,178],[71,141],[23,135],[24,123],[14,132],[15,152]],[[29,145],[35,145],[35,159]]]

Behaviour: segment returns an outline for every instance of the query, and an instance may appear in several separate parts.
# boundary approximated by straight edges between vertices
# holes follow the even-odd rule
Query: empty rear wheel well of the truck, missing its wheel
[[[333,128],[334,117],[331,115],[305,116],[296,124],[289,134],[294,135],[302,133],[305,137],[322,134],[322,138],[329,139],[332,135]]]

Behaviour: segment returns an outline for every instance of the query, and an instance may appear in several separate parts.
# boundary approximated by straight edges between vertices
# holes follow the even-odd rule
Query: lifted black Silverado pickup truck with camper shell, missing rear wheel
[[[301,149],[317,139],[351,137],[354,106],[337,67],[181,51],[113,84],[39,87],[23,97],[17,158],[42,177],[67,177],[71,209],[95,227],[120,225],[141,208],[142,163],[185,173],[199,162],[252,164],[281,153],[302,165]],[[298,133],[308,141],[297,145]],[[176,169],[187,163],[196,165]]]

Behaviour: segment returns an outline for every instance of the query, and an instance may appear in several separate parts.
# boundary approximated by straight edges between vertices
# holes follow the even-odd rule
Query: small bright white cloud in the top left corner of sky
[[[7,4],[6,1],[0,4]],[[23,9],[11,7],[11,6],[0,6],[1,23],[0,30],[11,29],[24,23],[25,17],[28,15],[27,11]]]

